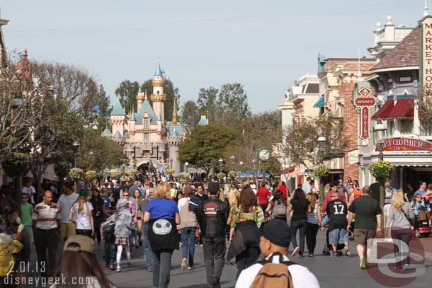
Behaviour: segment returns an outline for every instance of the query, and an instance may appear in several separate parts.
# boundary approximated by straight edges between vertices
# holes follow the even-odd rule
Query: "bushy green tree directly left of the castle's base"
[[[88,129],[81,141],[79,166],[84,171],[103,171],[126,163],[127,157],[123,147],[111,139],[101,137],[92,129]]]

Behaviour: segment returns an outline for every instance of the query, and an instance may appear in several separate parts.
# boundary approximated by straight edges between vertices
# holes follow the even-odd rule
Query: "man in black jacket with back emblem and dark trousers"
[[[227,205],[217,198],[219,184],[209,183],[210,198],[200,202],[198,223],[203,237],[204,263],[207,282],[211,288],[220,288],[220,276],[224,269],[225,224],[227,223]]]

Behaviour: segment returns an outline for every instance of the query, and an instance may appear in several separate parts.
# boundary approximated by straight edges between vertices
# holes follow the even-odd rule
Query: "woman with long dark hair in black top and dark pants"
[[[297,188],[294,191],[294,196],[288,207],[288,211],[292,211],[291,216],[291,241],[294,246],[292,256],[299,253],[300,258],[303,257],[303,251],[305,250],[305,235],[307,226],[307,208],[309,207],[309,201],[305,197],[305,192],[302,188]],[[297,230],[299,231],[300,246],[297,245]]]

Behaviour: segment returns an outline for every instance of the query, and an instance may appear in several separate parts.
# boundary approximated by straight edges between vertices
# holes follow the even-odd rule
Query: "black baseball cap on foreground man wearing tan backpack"
[[[265,222],[263,226],[261,226],[261,235],[277,246],[290,246],[290,226],[282,220],[273,219]]]

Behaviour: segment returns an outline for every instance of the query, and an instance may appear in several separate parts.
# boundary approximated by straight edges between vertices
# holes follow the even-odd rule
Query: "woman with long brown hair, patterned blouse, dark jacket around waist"
[[[232,207],[227,224],[229,230],[229,246],[227,260],[236,258],[237,277],[240,272],[258,260],[259,228],[264,221],[263,209],[258,205],[256,195],[249,185],[241,189],[239,205]]]

